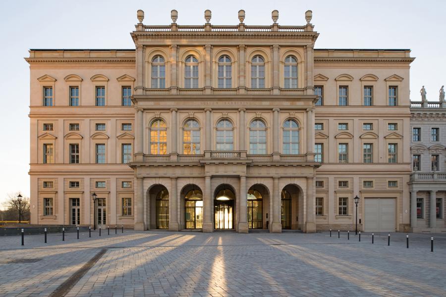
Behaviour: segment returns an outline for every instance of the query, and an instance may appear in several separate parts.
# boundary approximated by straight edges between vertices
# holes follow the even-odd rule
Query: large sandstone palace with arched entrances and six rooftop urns
[[[353,230],[358,195],[360,230],[408,230],[410,50],[171,16],[138,11],[136,50],[30,50],[32,223]]]

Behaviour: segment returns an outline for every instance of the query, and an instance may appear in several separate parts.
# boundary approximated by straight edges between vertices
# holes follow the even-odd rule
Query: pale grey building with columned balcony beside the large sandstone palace
[[[413,232],[446,232],[446,102],[411,102]]]

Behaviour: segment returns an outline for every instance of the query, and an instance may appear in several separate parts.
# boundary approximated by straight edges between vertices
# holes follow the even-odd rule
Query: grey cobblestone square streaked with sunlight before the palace
[[[101,249],[78,296],[446,296],[446,235],[103,231],[0,237],[0,297],[49,296]],[[31,260],[30,260],[31,259]],[[37,260],[37,261],[35,261]],[[35,262],[33,262],[35,261]]]

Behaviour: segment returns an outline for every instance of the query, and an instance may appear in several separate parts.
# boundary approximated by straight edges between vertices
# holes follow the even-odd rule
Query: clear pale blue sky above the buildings
[[[279,10],[281,25],[305,24],[305,11],[320,33],[317,49],[412,49],[412,100],[420,100],[425,85],[428,100],[438,100],[446,84],[444,0],[61,0],[1,1],[0,84],[0,203],[8,193],[29,196],[29,67],[28,49],[133,49],[129,33],[137,23],[136,10],[145,12],[144,24],[170,24],[170,10],[178,10],[178,24],[272,24]]]

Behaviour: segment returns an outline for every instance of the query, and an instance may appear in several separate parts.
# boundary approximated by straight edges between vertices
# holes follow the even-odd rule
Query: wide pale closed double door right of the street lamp
[[[395,198],[364,200],[364,231],[395,232]]]

